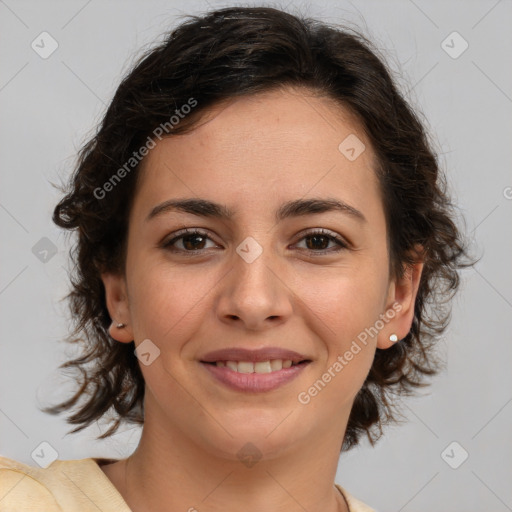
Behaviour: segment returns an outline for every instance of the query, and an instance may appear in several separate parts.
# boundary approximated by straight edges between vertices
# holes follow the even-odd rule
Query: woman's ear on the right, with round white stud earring
[[[423,247],[416,246],[416,262],[408,265],[404,270],[404,275],[392,280],[389,285],[386,311],[390,313],[394,311],[395,314],[393,316],[389,315],[391,320],[379,332],[377,348],[386,349],[394,345],[396,342],[389,339],[391,334],[396,334],[398,340],[401,340],[411,330],[414,319],[414,305],[423,272],[424,261],[420,257],[422,254]]]

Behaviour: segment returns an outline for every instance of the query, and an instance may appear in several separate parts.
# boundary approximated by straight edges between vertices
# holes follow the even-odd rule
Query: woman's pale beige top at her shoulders
[[[56,460],[45,469],[0,456],[0,512],[131,512],[99,464],[113,459]],[[336,485],[350,512],[375,512]]]

